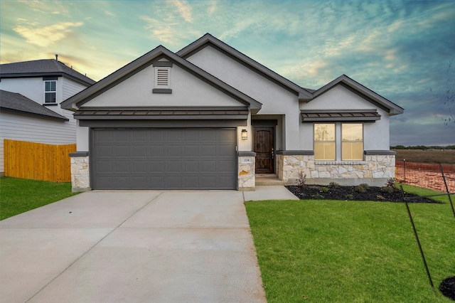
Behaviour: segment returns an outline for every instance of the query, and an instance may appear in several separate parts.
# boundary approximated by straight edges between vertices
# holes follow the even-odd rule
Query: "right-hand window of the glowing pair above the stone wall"
[[[341,124],[341,160],[363,159],[363,124]]]

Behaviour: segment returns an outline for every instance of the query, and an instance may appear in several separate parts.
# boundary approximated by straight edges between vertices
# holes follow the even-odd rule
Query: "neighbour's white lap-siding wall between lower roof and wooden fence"
[[[3,80],[2,80],[3,81]],[[47,144],[76,142],[75,122],[60,122],[30,115],[0,113],[0,172],[4,172],[4,139]]]

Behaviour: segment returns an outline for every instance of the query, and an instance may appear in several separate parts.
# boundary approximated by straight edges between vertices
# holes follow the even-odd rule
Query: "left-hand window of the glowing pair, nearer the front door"
[[[336,156],[335,124],[314,124],[314,159],[334,161]]]

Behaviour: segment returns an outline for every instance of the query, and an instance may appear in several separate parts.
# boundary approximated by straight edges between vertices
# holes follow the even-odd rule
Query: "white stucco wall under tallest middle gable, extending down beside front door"
[[[299,141],[294,139],[299,137],[299,102],[294,93],[210,46],[187,60],[261,102],[262,110],[258,115],[283,115],[282,134],[279,134],[283,142],[281,147],[277,145],[277,149],[299,149]]]

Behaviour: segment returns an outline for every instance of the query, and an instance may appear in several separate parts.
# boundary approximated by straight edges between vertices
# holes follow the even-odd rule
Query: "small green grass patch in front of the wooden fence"
[[[73,196],[70,183],[0,178],[0,220]]]

